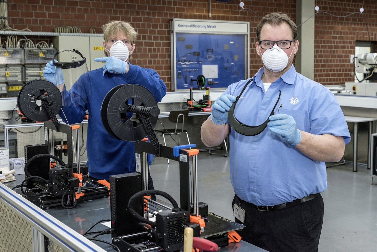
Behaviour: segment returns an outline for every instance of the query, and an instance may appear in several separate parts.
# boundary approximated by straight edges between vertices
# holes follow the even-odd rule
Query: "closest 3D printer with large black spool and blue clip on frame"
[[[124,111],[133,115],[125,117]],[[195,144],[173,148],[159,144],[153,129],[158,115],[155,98],[140,85],[116,86],[103,100],[101,120],[107,132],[115,138],[135,142],[136,172],[110,176],[111,224],[115,230],[113,244],[121,251],[156,251],[161,248],[169,252],[179,251],[184,246],[185,231],[190,228],[193,237],[197,237],[193,238],[197,241],[194,246],[203,245],[199,238],[217,246],[239,241],[241,238],[235,230],[242,229],[242,224],[210,213],[207,204],[198,202],[199,150],[192,149]],[[179,206],[169,196],[172,207],[148,197],[161,192],[147,190],[147,153],[179,162]],[[149,214],[156,216],[155,221],[148,220]]]

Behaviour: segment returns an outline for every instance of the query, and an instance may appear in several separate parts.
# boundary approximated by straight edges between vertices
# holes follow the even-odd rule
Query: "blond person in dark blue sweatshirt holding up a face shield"
[[[135,172],[134,143],[113,138],[102,124],[101,104],[107,92],[121,84],[138,84],[149,89],[157,102],[166,95],[166,85],[156,71],[129,62],[135,50],[135,29],[123,21],[109,22],[102,28],[106,57],[95,58],[94,61],[105,62],[103,68],[81,75],[69,91],[64,85],[61,69],[56,68],[52,61],[43,70],[43,77],[61,91],[63,106],[59,115],[64,122],[80,123],[86,111],[89,112],[87,165],[94,180],[109,180],[110,175]],[[71,104],[64,106],[67,103]],[[152,161],[153,155],[148,154],[148,165]],[[149,189],[153,189],[149,172],[148,175]]]

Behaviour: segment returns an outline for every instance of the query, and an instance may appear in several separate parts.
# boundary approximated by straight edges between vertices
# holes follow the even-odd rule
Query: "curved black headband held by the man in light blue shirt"
[[[258,135],[258,134],[261,134],[262,131],[264,131],[264,129],[267,127],[267,123],[270,121],[268,118],[267,120],[262,123],[261,125],[258,125],[258,126],[250,126],[250,125],[247,125],[247,124],[244,124],[244,123],[241,123],[241,121],[239,121],[236,116],[234,115],[234,108],[236,107],[236,104],[239,100],[239,98],[241,97],[242,93],[244,92],[245,88],[247,87],[247,85],[252,81],[253,79],[250,79],[246,85],[244,86],[244,88],[242,89],[241,91],[241,94],[239,94],[237,97],[236,97],[236,100],[234,101],[234,103],[232,104],[232,106],[230,107],[230,110],[229,110],[229,113],[228,113],[228,121],[229,121],[229,124],[230,126],[232,127],[232,129],[234,129],[236,132],[238,132],[239,134],[242,134],[242,135],[245,135],[245,136],[254,136],[254,135]],[[279,100],[280,100],[280,94],[281,94],[281,91],[279,90],[279,98],[277,98],[277,101],[275,103],[275,106],[274,108],[272,109],[271,111],[271,114],[268,116],[270,117],[271,115],[274,114],[274,110],[276,108],[276,105],[277,103],[279,103]]]

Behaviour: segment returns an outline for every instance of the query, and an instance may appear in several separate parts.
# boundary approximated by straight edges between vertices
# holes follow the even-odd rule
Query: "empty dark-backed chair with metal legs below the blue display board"
[[[184,129],[184,123],[189,119],[189,110],[172,110],[169,114],[169,121],[172,123],[175,123],[174,129],[159,129],[155,130],[157,136],[162,136],[164,138],[164,144],[166,145],[166,139],[165,135],[179,135],[178,138],[178,145],[181,141],[181,133],[186,134],[187,141],[189,141],[189,134],[187,134],[187,131]],[[182,124],[182,127],[179,126],[179,124]],[[161,123],[162,125],[162,123]],[[169,158],[167,158],[167,163],[169,164]]]

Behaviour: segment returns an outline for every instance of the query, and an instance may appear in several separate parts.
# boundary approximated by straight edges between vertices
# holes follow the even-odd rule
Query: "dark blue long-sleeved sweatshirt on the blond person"
[[[129,64],[127,74],[112,74],[99,68],[81,75],[72,88],[61,92],[63,106],[60,117],[67,124],[80,123],[89,113],[86,150],[89,175],[109,179],[110,175],[135,172],[135,145],[109,135],[101,121],[102,101],[110,89],[121,84],[138,84],[146,87],[156,101],[166,94],[166,85],[153,69]],[[153,155],[148,154],[148,165]]]

